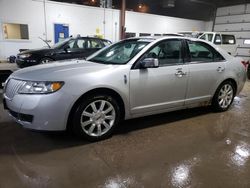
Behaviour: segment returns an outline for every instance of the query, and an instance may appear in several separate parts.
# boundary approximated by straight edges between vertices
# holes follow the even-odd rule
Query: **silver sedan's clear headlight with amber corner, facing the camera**
[[[64,82],[31,82],[27,81],[18,91],[19,94],[48,94],[62,88]]]

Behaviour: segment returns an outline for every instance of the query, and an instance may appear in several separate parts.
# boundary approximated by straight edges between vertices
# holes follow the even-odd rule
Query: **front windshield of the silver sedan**
[[[126,64],[150,42],[143,39],[124,40],[88,60],[103,64]]]

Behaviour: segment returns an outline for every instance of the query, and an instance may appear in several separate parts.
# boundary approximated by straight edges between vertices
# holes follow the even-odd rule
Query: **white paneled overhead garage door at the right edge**
[[[214,31],[234,34],[237,56],[250,59],[250,4],[218,8]]]

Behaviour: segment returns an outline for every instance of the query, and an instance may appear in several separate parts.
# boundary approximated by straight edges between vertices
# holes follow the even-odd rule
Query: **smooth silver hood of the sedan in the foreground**
[[[98,64],[85,60],[67,60],[20,69],[14,72],[11,77],[32,81],[64,81],[83,74],[98,74],[98,72],[114,69],[117,66]]]

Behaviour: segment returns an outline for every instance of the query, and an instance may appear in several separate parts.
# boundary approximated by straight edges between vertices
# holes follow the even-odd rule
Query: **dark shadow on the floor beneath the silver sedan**
[[[117,127],[116,135],[126,136],[130,132],[149,127],[163,126],[188,118],[208,114],[210,108],[195,108],[124,121]],[[166,126],[166,125],[164,125]],[[110,138],[112,139],[112,138]],[[95,144],[85,141],[69,132],[37,132],[23,129],[17,123],[0,122],[0,155],[43,153],[56,149]],[[96,143],[98,144],[98,142]]]

